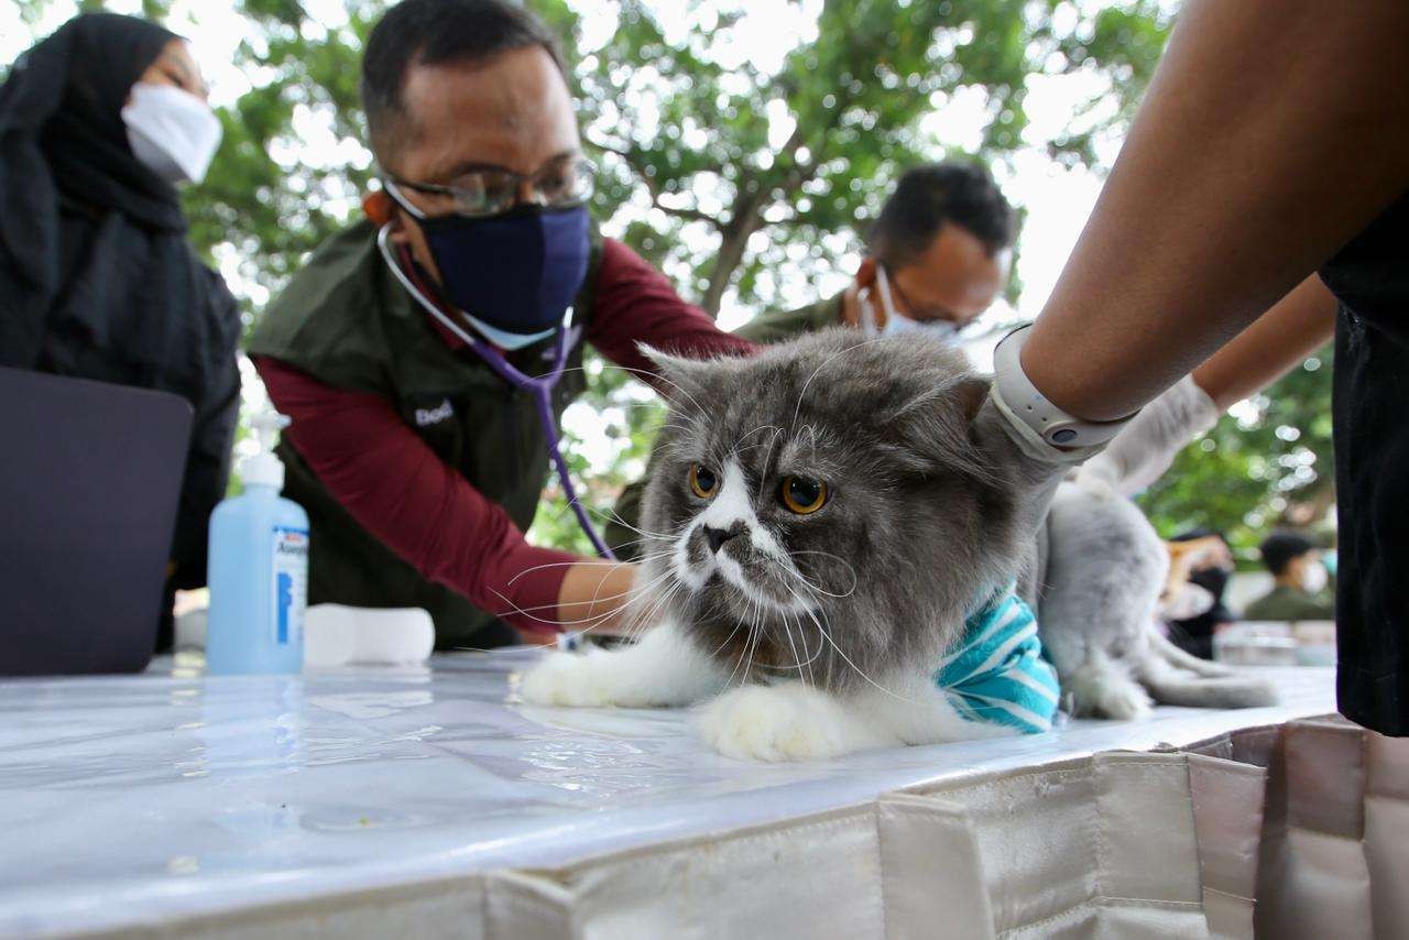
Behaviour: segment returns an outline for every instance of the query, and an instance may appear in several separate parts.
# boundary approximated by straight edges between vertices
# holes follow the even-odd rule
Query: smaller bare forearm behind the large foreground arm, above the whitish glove
[[[1193,371],[1219,412],[1257,395],[1336,333],[1336,297],[1312,275]]]

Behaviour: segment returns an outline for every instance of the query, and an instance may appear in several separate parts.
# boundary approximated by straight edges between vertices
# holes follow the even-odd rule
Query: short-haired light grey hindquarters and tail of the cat
[[[1186,654],[1155,629],[1169,550],[1131,503],[1099,482],[1064,482],[1047,516],[1037,610],[1047,655],[1075,715],[1131,719],[1164,705],[1275,705],[1261,679]]]

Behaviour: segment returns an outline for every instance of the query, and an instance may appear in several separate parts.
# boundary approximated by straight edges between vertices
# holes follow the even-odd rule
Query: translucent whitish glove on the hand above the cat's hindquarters
[[[1099,481],[1134,496],[1160,479],[1175,455],[1219,420],[1213,399],[1184,376],[1127,424],[1110,445],[1076,471],[1078,483]]]

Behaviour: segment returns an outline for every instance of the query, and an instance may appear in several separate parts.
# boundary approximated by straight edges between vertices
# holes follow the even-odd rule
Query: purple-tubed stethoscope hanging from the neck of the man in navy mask
[[[392,249],[392,223],[382,225],[380,231],[378,231],[376,247],[380,249],[382,258],[386,261],[386,266],[392,269],[392,273],[402,283],[406,292],[416,297],[423,307],[426,307],[428,314],[435,317],[435,320],[447,330],[464,340],[465,344],[475,351],[475,355],[478,355],[485,365],[493,369],[495,375],[502,378],[504,382],[509,382],[516,389],[528,392],[533,396],[534,404],[538,410],[538,423],[542,426],[542,433],[548,438],[548,457],[552,459],[552,465],[558,471],[558,481],[562,483],[562,492],[568,497],[568,505],[572,506],[572,512],[578,517],[578,524],[582,526],[582,531],[588,534],[588,540],[592,543],[592,547],[599,555],[607,561],[616,561],[616,555],[612,554],[606,541],[603,541],[602,536],[597,534],[597,530],[592,526],[592,520],[588,519],[586,507],[583,507],[582,502],[578,499],[578,489],[572,485],[572,475],[568,472],[568,461],[562,457],[562,431],[558,428],[558,420],[552,413],[552,390],[558,386],[558,381],[566,371],[569,333],[568,321],[572,319],[572,309],[569,307],[566,314],[564,314],[562,324],[558,327],[554,338],[552,366],[541,376],[524,375],[504,358],[504,354],[500,352],[497,347],[485,342],[472,333],[461,328],[461,326],[455,323],[455,320],[438,303],[426,296],[426,292],[421,290],[416,278],[407,273],[410,255],[406,248],[402,248],[400,259],[397,259],[396,252]]]

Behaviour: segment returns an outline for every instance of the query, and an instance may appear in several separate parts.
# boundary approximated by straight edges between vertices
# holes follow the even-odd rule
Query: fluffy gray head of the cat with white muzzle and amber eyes
[[[937,658],[1012,576],[1006,475],[972,424],[988,385],[958,354],[834,330],[654,358],[672,389],[647,583],[731,668],[875,681]]]

